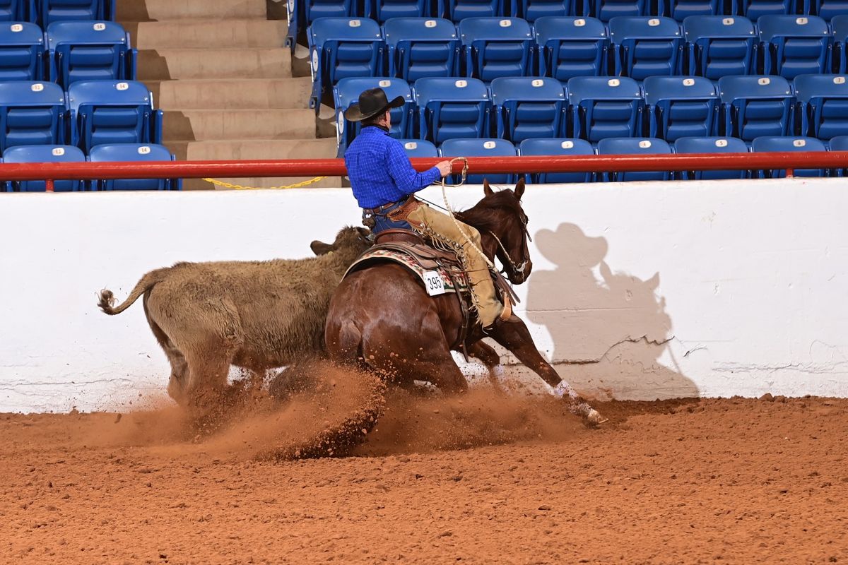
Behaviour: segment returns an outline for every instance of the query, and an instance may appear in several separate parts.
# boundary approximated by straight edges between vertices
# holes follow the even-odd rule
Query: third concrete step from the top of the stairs
[[[139,80],[276,79],[292,75],[285,48],[144,49],[138,53]]]

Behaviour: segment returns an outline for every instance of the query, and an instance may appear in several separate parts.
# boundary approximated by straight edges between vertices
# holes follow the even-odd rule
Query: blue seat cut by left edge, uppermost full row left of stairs
[[[44,78],[44,34],[28,22],[0,24],[0,80]]]

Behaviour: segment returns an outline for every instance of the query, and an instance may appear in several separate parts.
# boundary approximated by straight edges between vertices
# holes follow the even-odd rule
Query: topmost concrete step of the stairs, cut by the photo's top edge
[[[118,21],[261,18],[265,0],[118,0]]]

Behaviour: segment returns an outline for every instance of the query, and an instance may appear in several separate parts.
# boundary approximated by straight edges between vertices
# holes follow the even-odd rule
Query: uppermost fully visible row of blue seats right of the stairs
[[[313,93],[354,76],[414,81],[467,76],[488,82],[504,76],[796,75],[845,72],[848,14],[821,18],[764,15],[599,19],[322,18],[310,27]]]

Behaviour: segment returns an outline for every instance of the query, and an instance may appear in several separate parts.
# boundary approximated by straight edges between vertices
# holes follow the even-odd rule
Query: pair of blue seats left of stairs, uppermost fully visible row
[[[0,23],[0,80],[135,80],[137,50],[110,21],[59,21],[47,31],[28,22]]]

